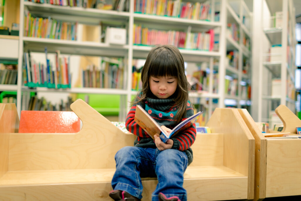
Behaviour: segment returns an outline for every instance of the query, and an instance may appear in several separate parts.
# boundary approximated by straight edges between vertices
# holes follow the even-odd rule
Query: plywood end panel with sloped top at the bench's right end
[[[248,199],[253,199],[255,139],[239,111],[216,108],[207,126],[214,133],[224,133],[223,165],[248,176]]]

